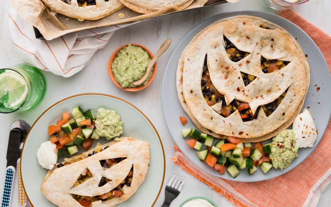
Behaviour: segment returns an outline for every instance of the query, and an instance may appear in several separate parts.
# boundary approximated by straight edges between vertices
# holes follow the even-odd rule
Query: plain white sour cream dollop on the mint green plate
[[[42,143],[37,151],[37,159],[43,168],[52,170],[58,161],[56,144],[53,144],[51,141]]]

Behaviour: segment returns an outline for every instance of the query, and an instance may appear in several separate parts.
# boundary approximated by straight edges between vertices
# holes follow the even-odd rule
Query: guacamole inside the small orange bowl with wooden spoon
[[[141,47],[128,46],[121,49],[112,63],[112,71],[122,88],[137,87],[133,81],[139,80],[145,75],[145,70],[151,61],[148,53]],[[147,79],[141,84],[146,85],[151,78],[153,69]]]

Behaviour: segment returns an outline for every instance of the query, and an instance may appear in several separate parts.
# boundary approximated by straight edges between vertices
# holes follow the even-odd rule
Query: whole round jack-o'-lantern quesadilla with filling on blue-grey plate
[[[244,142],[286,129],[302,109],[309,65],[285,29],[264,19],[236,16],[197,34],[177,67],[183,109],[204,133]]]

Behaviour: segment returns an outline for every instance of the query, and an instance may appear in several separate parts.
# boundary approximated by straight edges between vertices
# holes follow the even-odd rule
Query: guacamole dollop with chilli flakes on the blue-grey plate
[[[299,146],[292,129],[285,129],[272,139],[270,159],[274,168],[287,168],[298,157]]]

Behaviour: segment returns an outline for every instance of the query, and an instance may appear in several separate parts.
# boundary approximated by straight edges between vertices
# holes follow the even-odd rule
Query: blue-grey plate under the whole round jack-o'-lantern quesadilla
[[[179,121],[178,116],[186,116],[185,111],[183,110],[181,104],[179,103],[177,90],[176,90],[176,69],[178,60],[183,49],[188,45],[188,43],[193,39],[195,35],[197,35],[201,30],[216,22],[217,20],[238,16],[238,15],[249,15],[256,16],[263,19],[266,19],[276,25],[284,27],[292,36],[297,38],[298,43],[303,49],[304,53],[307,54],[307,60],[310,66],[310,85],[306,95],[304,108],[310,107],[308,110],[311,111],[312,118],[315,118],[315,125],[318,129],[317,140],[314,143],[313,147],[300,148],[299,149],[299,157],[295,158],[292,164],[288,167],[280,171],[279,169],[272,168],[268,173],[264,174],[260,168],[253,174],[249,175],[247,169],[240,170],[240,174],[238,177],[233,179],[231,175],[226,171],[224,175],[220,175],[214,168],[211,168],[207,165],[206,162],[201,162],[198,159],[196,154],[196,150],[191,149],[191,147],[186,144],[185,140],[182,137],[181,130],[184,128],[196,128],[193,122],[188,118],[188,123],[183,127]],[[315,84],[318,84],[320,87],[319,91],[316,91]],[[322,53],[319,51],[316,44],[312,41],[312,39],[298,26],[293,24],[292,22],[278,16],[275,14],[271,14],[268,12],[261,11],[233,11],[233,12],[225,12],[219,15],[216,15],[200,25],[196,26],[193,30],[191,30],[178,44],[176,49],[174,50],[172,56],[169,59],[168,65],[166,67],[166,72],[163,78],[162,83],[162,109],[163,116],[165,118],[165,122],[167,128],[179,147],[179,149],[198,167],[204,169],[205,171],[233,181],[262,181],[270,178],[277,177],[282,175],[296,166],[298,166],[302,161],[304,161],[308,155],[315,149],[318,142],[321,140],[326,127],[329,122],[330,113],[331,113],[331,96],[329,89],[331,88],[331,77],[329,73],[329,68],[326,65],[324,57]],[[214,143],[216,140],[214,140]],[[270,143],[271,139],[263,141],[263,144]]]

